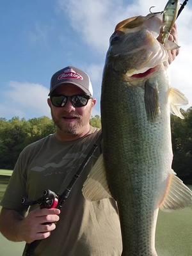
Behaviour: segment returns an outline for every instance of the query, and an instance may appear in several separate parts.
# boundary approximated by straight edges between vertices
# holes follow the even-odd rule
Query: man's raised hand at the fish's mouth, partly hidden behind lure
[[[158,36],[157,40],[161,42],[161,33]],[[178,36],[177,36],[177,26],[174,24],[172,31],[170,32],[170,36],[168,37],[168,40],[175,42],[177,44],[178,42]],[[179,48],[175,50],[168,50],[168,63],[171,64],[173,60],[175,60],[176,56],[179,54]]]

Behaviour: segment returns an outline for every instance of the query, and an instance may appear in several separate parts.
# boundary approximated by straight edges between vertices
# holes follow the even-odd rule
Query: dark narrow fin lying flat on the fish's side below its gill
[[[145,110],[147,119],[154,122],[159,114],[159,92],[157,83],[151,84],[148,80],[145,83]]]

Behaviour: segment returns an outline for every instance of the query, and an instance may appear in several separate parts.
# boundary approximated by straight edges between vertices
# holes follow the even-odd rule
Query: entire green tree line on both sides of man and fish
[[[173,170],[187,184],[192,184],[192,108],[182,110],[184,120],[171,116]],[[101,127],[100,116],[91,118],[90,124]],[[52,120],[46,116],[26,120],[13,117],[0,118],[0,169],[10,169],[26,145],[54,133]]]

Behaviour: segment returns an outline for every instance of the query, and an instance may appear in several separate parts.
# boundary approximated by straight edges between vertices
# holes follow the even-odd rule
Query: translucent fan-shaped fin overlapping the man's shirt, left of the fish
[[[106,170],[102,154],[97,159],[88,178],[83,184],[83,196],[90,201],[101,200],[103,198],[111,198],[106,179]]]

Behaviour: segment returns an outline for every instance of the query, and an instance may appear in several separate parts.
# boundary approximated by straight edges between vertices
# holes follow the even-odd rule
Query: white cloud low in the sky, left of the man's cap
[[[50,116],[48,93],[49,90],[42,84],[11,81],[3,95],[4,104],[0,106],[0,116]]]

